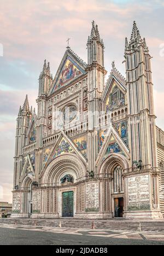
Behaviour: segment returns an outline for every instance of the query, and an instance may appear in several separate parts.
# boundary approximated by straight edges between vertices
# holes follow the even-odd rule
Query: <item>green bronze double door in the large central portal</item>
[[[62,217],[73,217],[73,191],[62,193]]]

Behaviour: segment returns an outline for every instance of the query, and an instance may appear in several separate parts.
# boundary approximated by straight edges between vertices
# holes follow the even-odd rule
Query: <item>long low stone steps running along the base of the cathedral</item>
[[[92,228],[114,230],[164,231],[164,222],[139,222],[130,220],[83,220],[83,219],[0,219],[3,224],[52,226],[62,228]]]

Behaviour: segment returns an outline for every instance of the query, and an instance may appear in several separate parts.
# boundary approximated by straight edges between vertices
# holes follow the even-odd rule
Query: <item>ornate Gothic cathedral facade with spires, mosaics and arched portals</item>
[[[164,132],[155,124],[151,56],[136,22],[126,78],[105,83],[104,44],[92,22],[87,63],[68,46],[55,78],[39,76],[16,125],[13,218],[163,218]]]

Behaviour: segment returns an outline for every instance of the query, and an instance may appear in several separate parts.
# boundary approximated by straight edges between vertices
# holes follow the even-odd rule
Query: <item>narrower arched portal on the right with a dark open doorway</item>
[[[123,174],[126,169],[128,162],[125,156],[114,153],[109,155],[99,168],[99,176],[104,178],[102,202],[105,206],[108,204],[108,207],[102,206],[102,209],[114,218],[124,217],[126,196]]]

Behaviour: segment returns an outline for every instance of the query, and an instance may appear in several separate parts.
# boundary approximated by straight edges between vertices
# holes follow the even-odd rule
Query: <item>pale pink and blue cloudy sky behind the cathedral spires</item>
[[[0,0],[0,201],[12,201],[16,117],[28,94],[36,107],[44,59],[53,77],[70,46],[87,61],[86,42],[95,20],[103,38],[105,67],[115,60],[125,75],[125,37],[133,20],[153,56],[156,124],[164,130],[163,0]]]

